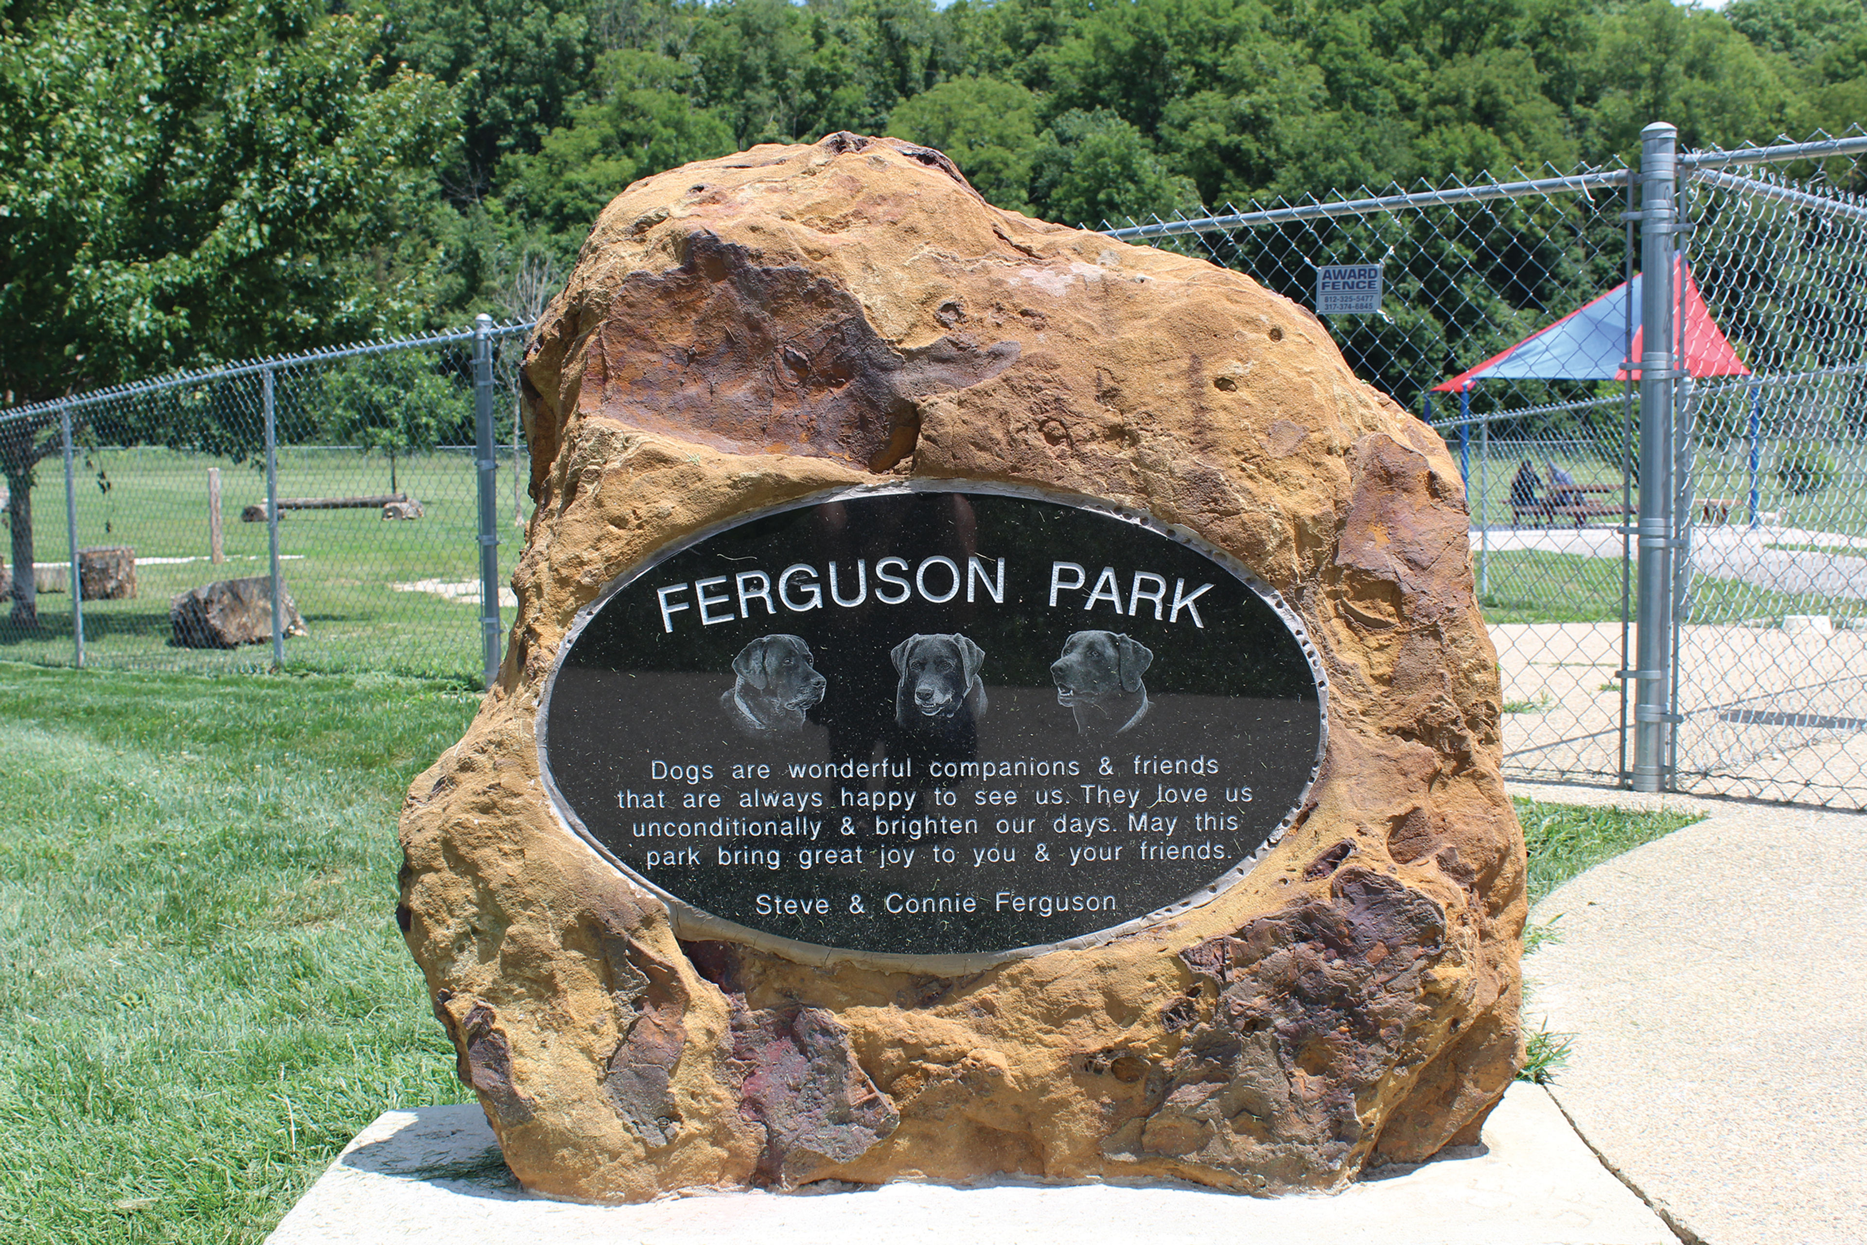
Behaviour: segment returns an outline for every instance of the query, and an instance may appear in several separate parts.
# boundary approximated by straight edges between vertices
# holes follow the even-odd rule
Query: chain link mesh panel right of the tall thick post
[[[1867,803],[1860,155],[1693,170],[1682,250],[1749,375],[1680,381],[1675,782]]]

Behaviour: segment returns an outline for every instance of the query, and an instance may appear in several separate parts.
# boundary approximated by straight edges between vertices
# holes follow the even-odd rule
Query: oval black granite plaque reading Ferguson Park
[[[990,958],[1210,898],[1314,776],[1294,618],[1156,525],[863,491],[717,530],[571,629],[566,821],[687,928]]]

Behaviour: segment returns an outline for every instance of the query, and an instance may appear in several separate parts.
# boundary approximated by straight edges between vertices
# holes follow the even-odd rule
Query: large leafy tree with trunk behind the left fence
[[[314,0],[54,0],[0,24],[7,399],[420,323],[454,99],[372,39]],[[0,442],[22,566],[47,429]]]

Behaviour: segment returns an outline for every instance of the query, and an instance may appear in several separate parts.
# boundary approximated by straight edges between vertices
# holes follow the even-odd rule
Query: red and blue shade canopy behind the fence
[[[1684,276],[1684,286],[1677,284]],[[1699,297],[1692,271],[1673,259],[1675,289],[1682,291],[1686,371],[1695,377],[1749,375],[1749,368],[1718,330],[1710,308]],[[1475,381],[1639,381],[1639,368],[1628,373],[1626,358],[1641,357],[1639,282],[1621,282],[1600,299],[1570,312],[1548,329],[1538,329],[1516,345],[1492,355],[1477,368],[1434,385],[1434,392],[1453,394]],[[1628,299],[1634,299],[1634,343],[1622,347],[1628,327]]]

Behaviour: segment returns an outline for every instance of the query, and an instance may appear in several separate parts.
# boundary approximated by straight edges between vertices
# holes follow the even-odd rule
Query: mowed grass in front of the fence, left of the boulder
[[[478,700],[0,663],[0,1239],[258,1241],[375,1114],[463,1101],[396,810]]]

